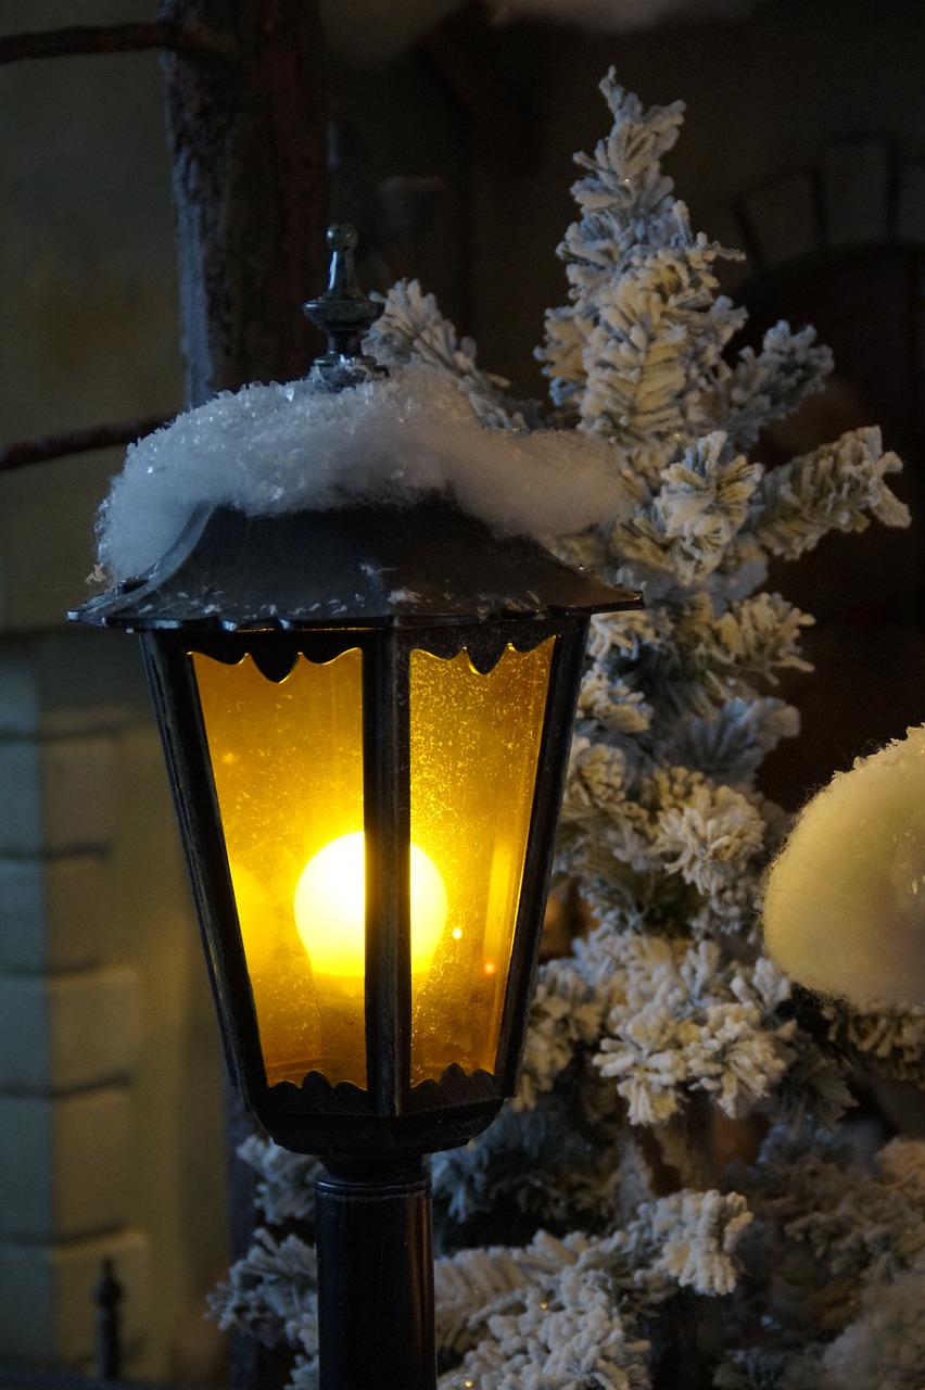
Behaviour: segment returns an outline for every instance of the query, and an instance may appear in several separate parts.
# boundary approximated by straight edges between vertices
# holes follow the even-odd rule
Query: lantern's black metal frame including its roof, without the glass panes
[[[638,599],[499,541],[447,502],[414,509],[199,516],[143,582],[90,600],[83,621],[139,631],[228,1058],[246,1102],[286,1148],[326,1161],[435,1152],[478,1134],[512,1095],[522,1054],[592,612]],[[512,646],[554,639],[517,927],[493,1072],[450,1065],[411,1084],[408,659],[465,651],[490,671]],[[268,681],[299,655],[362,657],[367,840],[365,1090],[310,1072],[269,1084],[190,653],[250,655]],[[474,777],[490,769],[471,769]]]

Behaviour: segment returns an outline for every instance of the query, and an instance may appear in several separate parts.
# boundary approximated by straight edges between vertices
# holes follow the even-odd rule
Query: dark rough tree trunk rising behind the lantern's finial
[[[303,375],[325,282],[325,93],[312,0],[161,0],[236,57],[167,53],[186,393]]]

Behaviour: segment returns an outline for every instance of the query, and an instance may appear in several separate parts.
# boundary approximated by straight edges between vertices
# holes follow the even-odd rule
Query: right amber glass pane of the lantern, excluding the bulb
[[[467,652],[411,653],[411,840],[447,897],[432,960],[411,977],[415,1084],[450,1062],[494,1070],[553,644],[508,646],[485,676]]]

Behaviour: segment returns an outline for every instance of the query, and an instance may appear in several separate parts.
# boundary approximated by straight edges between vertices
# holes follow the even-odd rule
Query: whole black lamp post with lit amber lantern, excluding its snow
[[[424,1156],[514,1093],[588,621],[636,606],[431,498],[215,509],[74,614],[142,637],[232,1072],[326,1169],[324,1390],[436,1383]]]

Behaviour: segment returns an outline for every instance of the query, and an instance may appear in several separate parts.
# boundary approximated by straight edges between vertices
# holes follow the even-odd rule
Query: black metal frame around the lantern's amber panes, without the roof
[[[551,840],[561,802],[564,769],[556,755],[561,748],[561,730],[571,724],[574,714],[574,673],[576,666],[581,669],[585,645],[585,634],[576,627],[582,624],[568,619],[528,619],[506,621],[492,630],[468,624],[414,624],[392,630],[314,631],[282,639],[275,632],[192,639],[189,634],[144,634],[150,684],[162,694],[158,703],[164,746],[179,751],[172,780],[197,912],[204,923],[212,962],[212,983],[229,1062],[250,1109],[285,1148],[328,1158],[362,1154],[368,1152],[375,1131],[376,1147],[390,1154],[435,1152],[467,1143],[494,1118],[504,1097],[514,1094],[532,995]],[[550,637],[556,639],[554,666],[496,1070],[493,1074],[485,1070],[467,1074],[451,1063],[439,1081],[425,1080],[412,1086],[408,657],[411,651],[446,659],[465,651],[478,670],[489,671],[508,644],[515,651],[526,652]],[[365,1091],[350,1081],[332,1086],[318,1070],[310,1072],[300,1087],[292,1081],[271,1086],[261,1059],[228,858],[214,834],[221,816],[189,653],[196,651],[226,663],[238,663],[250,655],[268,680],[279,680],[289,674],[299,655],[310,662],[329,662],[356,648],[362,656],[365,1049],[369,1086]],[[485,770],[474,769],[474,776],[485,776]]]

